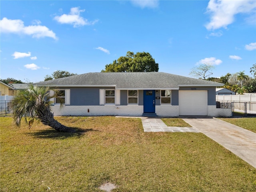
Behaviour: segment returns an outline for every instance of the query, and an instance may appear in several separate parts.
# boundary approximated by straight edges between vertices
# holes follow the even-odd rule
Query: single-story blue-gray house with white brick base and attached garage
[[[163,72],[86,73],[35,85],[62,92],[65,106],[52,106],[58,116],[232,114],[216,108],[216,86],[224,84]]]

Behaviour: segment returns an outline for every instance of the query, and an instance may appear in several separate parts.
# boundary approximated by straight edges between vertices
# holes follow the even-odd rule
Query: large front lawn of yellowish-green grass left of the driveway
[[[143,132],[139,118],[56,117],[77,130],[0,117],[1,192],[250,192],[256,169],[201,133]]]

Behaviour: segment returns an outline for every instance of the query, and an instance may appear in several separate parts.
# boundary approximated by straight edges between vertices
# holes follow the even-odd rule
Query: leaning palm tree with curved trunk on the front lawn
[[[50,95],[50,90],[54,91],[53,95]],[[74,129],[66,127],[54,119],[50,110],[52,104],[50,99],[58,98],[62,106],[64,100],[59,96],[60,92],[49,87],[31,85],[27,90],[20,90],[10,102],[16,125],[20,126],[22,117],[25,117],[25,121],[31,127],[34,118],[38,118],[42,124],[48,125],[58,132],[75,132]]]

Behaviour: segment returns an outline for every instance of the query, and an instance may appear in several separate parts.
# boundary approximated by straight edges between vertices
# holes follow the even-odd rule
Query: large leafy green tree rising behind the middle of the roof
[[[101,72],[158,72],[158,63],[148,52],[128,51],[126,56],[121,56],[118,60],[105,66]]]

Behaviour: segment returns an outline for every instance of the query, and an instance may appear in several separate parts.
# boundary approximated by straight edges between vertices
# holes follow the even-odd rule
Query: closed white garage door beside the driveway
[[[180,90],[180,115],[207,115],[207,100],[207,90]]]

